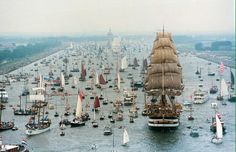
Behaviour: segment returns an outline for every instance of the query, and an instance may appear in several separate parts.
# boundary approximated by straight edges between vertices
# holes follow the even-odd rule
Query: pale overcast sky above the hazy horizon
[[[0,33],[234,33],[234,0],[0,0]]]

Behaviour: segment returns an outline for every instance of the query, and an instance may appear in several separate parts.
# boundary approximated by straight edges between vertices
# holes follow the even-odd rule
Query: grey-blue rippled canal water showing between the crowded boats
[[[87,50],[89,52],[89,50]],[[6,90],[9,94],[9,102],[6,104],[6,109],[3,110],[2,120],[9,121],[14,120],[15,125],[19,128],[17,131],[4,131],[0,132],[0,135],[3,138],[3,143],[14,144],[19,143],[22,139],[27,140],[28,147],[30,151],[34,152],[88,152],[88,151],[97,151],[97,152],[109,152],[113,149],[118,152],[232,152],[235,150],[235,102],[227,101],[227,105],[222,105],[222,101],[217,101],[216,97],[218,95],[210,95],[210,100],[204,104],[194,104],[193,105],[193,121],[188,120],[189,112],[183,111],[180,117],[180,126],[175,130],[151,130],[149,129],[148,117],[142,116],[141,112],[144,107],[144,92],[142,88],[139,88],[136,98],[136,103],[140,110],[138,111],[138,118],[134,119],[134,123],[129,122],[128,110],[129,106],[124,106],[124,120],[116,121],[114,124],[110,123],[108,114],[111,112],[112,104],[102,105],[101,110],[105,114],[105,120],[99,120],[99,113],[96,117],[98,120],[98,128],[92,127],[93,119],[93,102],[89,97],[91,96],[90,91],[86,91],[85,87],[91,85],[91,79],[88,78],[88,75],[91,75],[92,69],[97,73],[101,73],[100,63],[103,61],[100,56],[97,56],[93,53],[90,55],[86,52],[83,57],[82,53],[75,54],[76,52],[67,52],[60,51],[56,54],[48,56],[45,58],[46,61],[51,60],[49,65],[40,63],[44,59],[41,59],[35,63],[38,63],[35,66],[35,63],[22,67],[16,71],[11,72],[11,74],[30,73],[28,88],[31,90],[35,84],[31,84],[34,80],[34,77],[37,74],[48,75],[49,71],[52,70],[54,77],[60,77],[60,72],[65,68],[65,63],[63,63],[63,58],[68,57],[68,69],[75,67],[74,64],[77,62],[79,68],[81,67],[81,61],[84,60],[85,68],[87,69],[86,81],[78,81],[78,85],[75,89],[71,88],[72,78],[69,79],[69,84],[66,85],[65,90],[70,94],[68,100],[71,106],[71,113],[73,109],[76,108],[77,102],[77,93],[79,89],[82,89],[86,95],[83,102],[83,109],[85,109],[85,103],[90,103],[90,118],[91,120],[86,122],[86,125],[83,127],[71,128],[67,126],[65,129],[65,136],[60,136],[61,130],[59,129],[59,122],[61,120],[61,115],[64,114],[65,100],[62,96],[50,96],[47,97],[49,103],[54,105],[53,110],[47,109],[49,112],[48,117],[52,119],[52,125],[50,131],[45,133],[35,135],[35,136],[26,136],[25,134],[25,124],[28,122],[29,116],[14,116],[13,107],[16,107],[19,104],[19,95],[22,93],[24,88],[23,81],[12,82],[10,86],[6,87]],[[149,50],[135,50],[130,57],[130,60],[133,60],[133,57],[137,57],[139,64],[142,64],[143,58],[148,57]],[[104,56],[103,56],[104,58]],[[90,61],[89,61],[90,60]],[[199,88],[199,84],[202,84],[202,90],[209,91],[212,84],[217,85],[220,88],[220,81],[216,81],[217,78],[220,78],[218,71],[219,65],[216,63],[209,64],[209,61],[197,58],[192,54],[181,53],[179,54],[179,60],[183,68],[183,82],[185,85],[184,91],[181,96],[177,97],[176,100],[180,103],[183,103],[184,100],[191,100],[192,93]],[[94,64],[92,64],[94,62]],[[113,85],[113,80],[116,78],[116,64],[117,57],[112,54],[108,54],[107,63],[113,63],[111,74],[106,76],[106,79],[111,79],[109,85]],[[73,63],[73,64],[72,64]],[[64,65],[63,65],[64,64]],[[103,64],[105,65],[105,64]],[[111,65],[111,64],[110,64]],[[203,81],[199,81],[198,75],[195,74],[197,68],[201,68],[201,76]],[[35,71],[38,69],[38,72]],[[215,72],[215,76],[208,76],[208,70]],[[69,70],[68,70],[69,71]],[[115,92],[113,88],[103,89],[101,92],[100,89],[95,89],[98,96],[102,93],[104,97],[108,97],[109,101],[115,101],[116,98],[123,100],[123,90],[131,90],[130,79],[127,79],[129,73],[133,75],[135,81],[141,81],[142,76],[140,74],[141,66],[137,69],[132,69],[129,67],[125,72],[120,73],[121,77],[125,83],[121,83],[121,91],[119,93]],[[235,71],[233,70],[233,73]],[[72,73],[73,76],[76,76],[77,79],[80,77],[80,72]],[[230,69],[225,67],[222,78],[226,81],[230,81]],[[47,86],[47,93],[51,94],[51,86]],[[32,92],[32,91],[31,91]],[[29,100],[29,99],[28,99]],[[215,115],[215,110],[211,108],[211,103],[216,102],[218,104],[218,111],[222,114],[224,125],[226,126],[227,133],[223,137],[223,143],[220,145],[215,145],[211,143],[211,138],[214,136],[214,133],[210,131],[211,123],[207,122],[207,119],[211,120],[211,117]],[[25,97],[22,96],[22,103],[24,106]],[[30,105],[30,104],[29,104]],[[59,112],[59,117],[54,117],[55,111]],[[100,111],[101,112],[101,111]],[[72,120],[73,115],[68,116],[67,119]],[[65,118],[65,116],[63,116]],[[103,130],[106,125],[111,125],[113,129],[113,135],[104,136]],[[122,126],[122,128],[120,128]],[[189,134],[191,128],[197,128],[199,132],[199,137],[193,138]],[[127,129],[129,134],[130,142],[127,146],[122,146],[122,136],[123,128]],[[92,148],[96,147],[96,148]]]

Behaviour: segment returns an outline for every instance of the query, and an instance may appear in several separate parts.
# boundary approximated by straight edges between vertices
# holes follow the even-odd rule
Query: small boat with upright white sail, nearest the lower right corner
[[[223,129],[219,117],[216,115],[216,135],[211,139],[214,144],[221,144],[223,142]]]

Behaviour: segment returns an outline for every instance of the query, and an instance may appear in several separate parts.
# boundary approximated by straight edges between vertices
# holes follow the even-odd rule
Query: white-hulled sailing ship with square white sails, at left
[[[39,87],[33,88],[33,91],[35,91],[35,94],[30,95],[30,100],[35,101],[35,108],[37,108],[37,120],[36,116],[33,115],[30,117],[29,122],[25,125],[26,127],[26,135],[37,135],[41,134],[43,132],[46,132],[50,129],[51,126],[51,119],[48,118],[48,116],[44,116],[44,108],[47,104],[45,101],[45,93],[46,89],[43,87],[42,82],[42,76],[40,75],[40,82]],[[41,109],[43,111],[41,111]],[[42,115],[41,115],[42,113]]]

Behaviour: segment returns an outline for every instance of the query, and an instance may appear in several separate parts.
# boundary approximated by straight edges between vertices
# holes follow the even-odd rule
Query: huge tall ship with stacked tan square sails
[[[144,80],[145,107],[150,128],[177,128],[182,110],[176,96],[183,91],[182,67],[171,33],[158,32]]]

